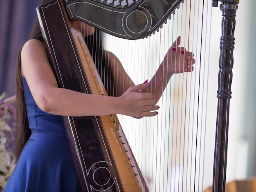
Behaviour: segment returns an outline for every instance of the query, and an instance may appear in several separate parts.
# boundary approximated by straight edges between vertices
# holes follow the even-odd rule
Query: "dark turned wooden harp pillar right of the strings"
[[[233,50],[235,44],[234,30],[236,10],[239,0],[221,0],[222,36],[220,38],[219,85],[217,91],[218,112],[216,122],[216,139],[213,167],[213,192],[225,192],[227,143],[229,129],[229,101],[231,99]],[[213,0],[213,6],[218,5]],[[216,7],[216,6],[214,6]]]

